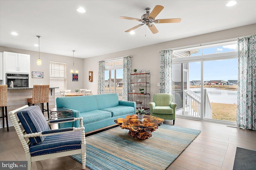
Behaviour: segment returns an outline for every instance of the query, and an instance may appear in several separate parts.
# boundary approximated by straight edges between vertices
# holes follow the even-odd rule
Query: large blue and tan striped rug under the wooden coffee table
[[[146,140],[115,127],[86,137],[86,166],[91,170],[164,170],[201,131],[161,125]],[[82,162],[81,154],[72,158]]]

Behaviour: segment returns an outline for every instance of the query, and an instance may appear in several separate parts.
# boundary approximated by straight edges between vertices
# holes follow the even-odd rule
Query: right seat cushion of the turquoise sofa
[[[134,112],[134,107],[130,106],[116,106],[116,107],[109,107],[106,109],[101,109],[104,111],[109,111],[112,114],[112,117],[118,116],[118,115],[124,115],[127,113],[132,113]]]

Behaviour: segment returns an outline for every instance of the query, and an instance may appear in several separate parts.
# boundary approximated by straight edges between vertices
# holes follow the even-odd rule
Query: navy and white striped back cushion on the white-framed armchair
[[[17,116],[26,131],[26,133],[36,133],[50,130],[50,127],[44,118],[39,106],[30,106],[17,112]],[[45,137],[30,137],[31,143],[40,143]]]

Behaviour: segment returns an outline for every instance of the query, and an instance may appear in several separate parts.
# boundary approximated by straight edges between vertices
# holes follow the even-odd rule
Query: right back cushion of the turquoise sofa
[[[119,106],[118,96],[116,93],[93,95],[97,101],[98,109]]]

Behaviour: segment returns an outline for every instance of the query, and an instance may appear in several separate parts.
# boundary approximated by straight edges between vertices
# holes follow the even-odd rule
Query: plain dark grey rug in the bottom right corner
[[[255,170],[256,151],[236,147],[233,170]]]

